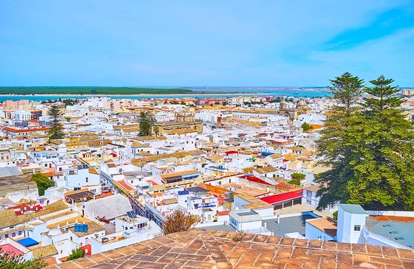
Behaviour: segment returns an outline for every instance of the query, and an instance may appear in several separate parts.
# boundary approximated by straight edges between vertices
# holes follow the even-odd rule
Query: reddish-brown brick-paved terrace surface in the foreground
[[[99,268],[414,268],[413,250],[190,230],[68,261],[48,269]]]

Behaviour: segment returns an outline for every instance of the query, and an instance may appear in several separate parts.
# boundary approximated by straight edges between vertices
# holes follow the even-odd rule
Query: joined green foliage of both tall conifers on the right
[[[347,73],[346,73],[347,74]],[[344,74],[345,75],[345,74]],[[343,76],[344,76],[343,75]],[[329,115],[317,142],[320,162],[331,170],[316,178],[321,183],[317,209],[337,202],[366,209],[414,210],[414,129],[406,120],[393,80],[371,81],[371,96],[357,105],[363,82],[346,75],[336,83],[341,103]]]

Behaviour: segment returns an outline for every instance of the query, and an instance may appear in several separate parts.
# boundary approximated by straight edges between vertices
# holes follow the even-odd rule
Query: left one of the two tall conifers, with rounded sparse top
[[[320,183],[318,195],[321,196],[318,209],[348,201],[346,183],[353,175],[351,156],[353,155],[353,135],[348,127],[359,121],[360,106],[357,105],[364,90],[364,80],[344,73],[330,80],[328,86],[337,105],[327,115],[322,138],[317,141],[319,163],[331,167],[315,179]]]

